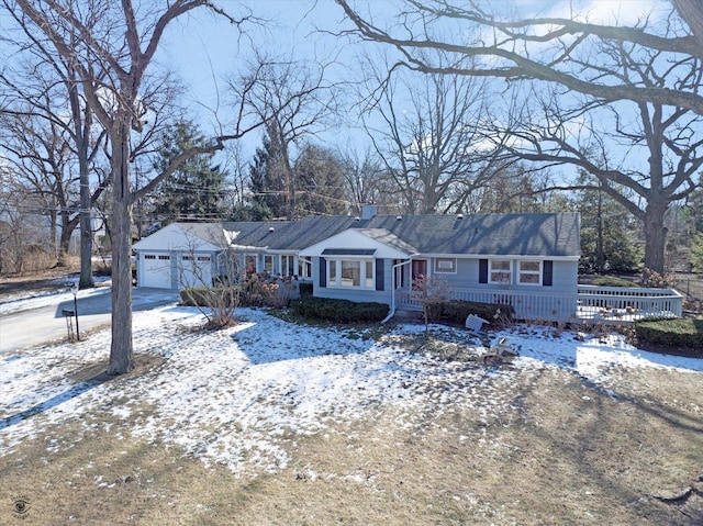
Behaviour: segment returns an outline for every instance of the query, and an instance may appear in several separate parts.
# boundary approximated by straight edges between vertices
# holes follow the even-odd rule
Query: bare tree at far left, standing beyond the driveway
[[[2,122],[10,132],[4,146],[19,167],[26,168],[29,163],[34,168],[23,171],[37,193],[53,201],[47,202],[47,214],[54,228],[56,215],[60,216],[59,258],[80,225],[79,287],[90,288],[94,286],[91,208],[105,188],[105,181],[91,181],[90,174],[105,133],[94,125],[72,63],[52,53],[51,43],[33,31],[22,11],[13,9],[8,0],[2,7],[16,30],[9,33],[7,43],[21,57],[0,72],[0,92],[5,100]],[[57,170],[59,158],[62,170]],[[65,171],[72,171],[74,166],[77,175],[68,180]],[[72,199],[69,183],[75,183],[78,199]]]

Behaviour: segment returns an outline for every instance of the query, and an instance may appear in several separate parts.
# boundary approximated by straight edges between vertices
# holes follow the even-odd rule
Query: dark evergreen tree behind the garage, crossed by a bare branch
[[[203,145],[205,138],[192,122],[170,126],[161,138],[153,168],[160,172],[185,149]],[[213,165],[214,154],[201,154],[182,163],[171,177],[159,184],[154,212],[164,223],[182,220],[216,220],[224,214],[225,174]]]

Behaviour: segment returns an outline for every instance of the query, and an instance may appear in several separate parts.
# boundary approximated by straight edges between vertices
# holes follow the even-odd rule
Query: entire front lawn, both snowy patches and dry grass
[[[595,360],[581,351],[589,344],[523,327],[510,336],[521,359],[495,370],[426,352],[479,351],[438,327],[419,346],[408,326],[376,342],[256,312],[220,334],[192,331],[188,310],[135,322],[140,368],[129,377],[99,378],[100,335],[3,363],[0,418],[12,425],[0,429],[0,524],[19,497],[24,524],[703,517],[695,491],[657,499],[700,486],[695,360],[662,367],[604,344],[591,350],[610,361]]]

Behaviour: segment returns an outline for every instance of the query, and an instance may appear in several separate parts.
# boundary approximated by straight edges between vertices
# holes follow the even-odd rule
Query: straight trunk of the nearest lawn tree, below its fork
[[[129,141],[130,127],[120,124],[112,157],[112,345],[109,374],[134,367],[132,347],[132,237]],[[115,144],[116,143],[116,144]]]

